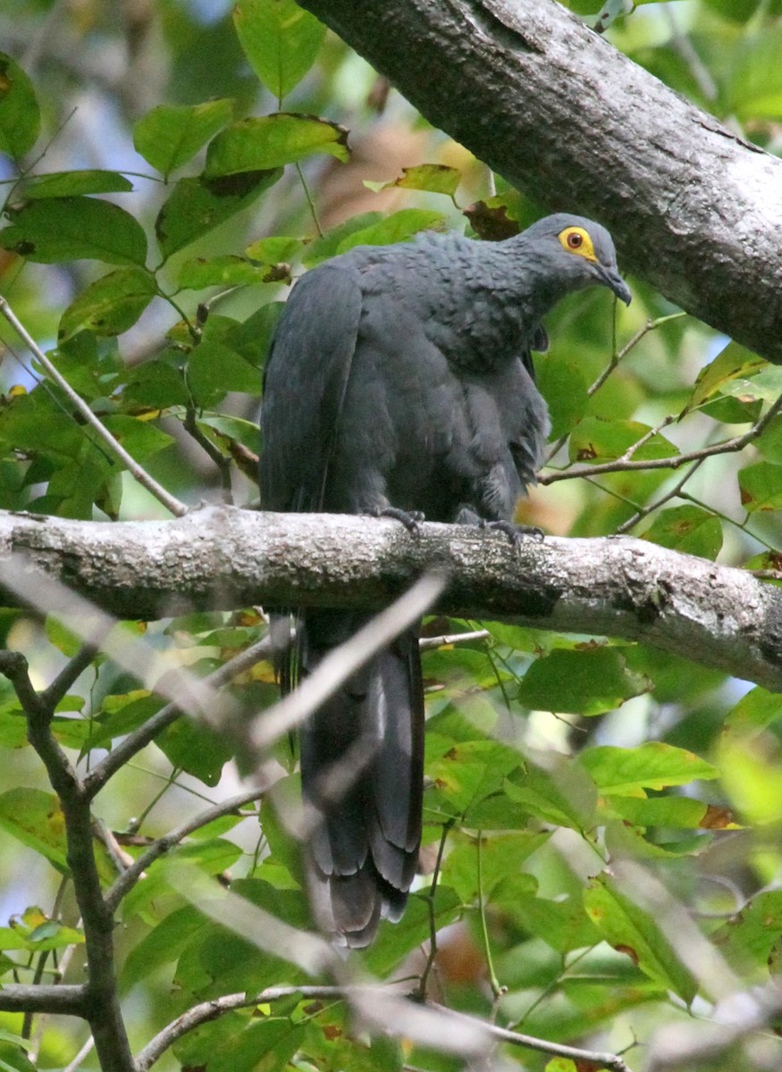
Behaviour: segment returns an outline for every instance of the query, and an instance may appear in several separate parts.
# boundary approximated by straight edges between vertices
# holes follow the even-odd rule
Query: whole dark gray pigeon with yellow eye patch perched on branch
[[[265,510],[396,508],[456,524],[504,522],[549,429],[530,352],[560,298],[607,286],[630,303],[608,232],[557,214],[502,242],[424,234],[357,247],[308,272],[264,375]],[[307,610],[283,690],[368,615]],[[362,743],[360,755],[356,742]],[[352,749],[352,750],[351,750]],[[424,696],[418,630],[355,673],[300,736],[303,794],[327,926],[367,946],[398,920],[420,843]]]

